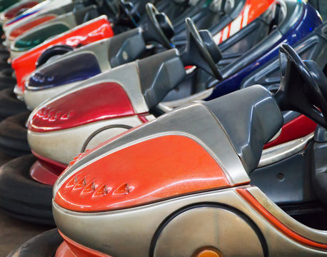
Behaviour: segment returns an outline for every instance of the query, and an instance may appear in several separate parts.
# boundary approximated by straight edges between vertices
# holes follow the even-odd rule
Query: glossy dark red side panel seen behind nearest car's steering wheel
[[[292,141],[296,138],[301,138],[308,135],[309,133],[315,131],[317,124],[311,119],[304,115],[300,115],[283,125],[281,129],[281,134],[275,140],[266,143],[264,148],[269,148],[272,146],[277,146],[281,143],[286,143]]]

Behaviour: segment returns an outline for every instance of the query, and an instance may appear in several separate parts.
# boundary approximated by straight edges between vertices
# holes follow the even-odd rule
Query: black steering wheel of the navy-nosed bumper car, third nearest
[[[173,37],[173,24],[171,24],[170,19],[166,14],[159,13],[156,7],[148,3],[146,4],[146,14],[149,16],[152,26],[156,30],[156,34],[159,36],[159,41],[167,49],[172,49],[173,44],[171,44],[171,37]],[[168,39],[169,38],[169,39]]]

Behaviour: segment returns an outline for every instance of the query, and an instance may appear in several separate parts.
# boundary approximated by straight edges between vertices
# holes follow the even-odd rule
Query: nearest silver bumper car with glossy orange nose
[[[312,175],[326,200],[327,79],[287,44],[280,59],[274,95],[256,85],[197,101],[76,158],[54,186],[64,242],[49,231],[9,256],[326,256],[326,211],[298,221],[251,183],[281,112],[298,111],[319,125]]]

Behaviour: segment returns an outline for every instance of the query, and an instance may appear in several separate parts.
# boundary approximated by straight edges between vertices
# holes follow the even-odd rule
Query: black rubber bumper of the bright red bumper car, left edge
[[[0,91],[0,119],[21,114],[24,111],[28,111],[26,105],[16,98],[12,88]]]

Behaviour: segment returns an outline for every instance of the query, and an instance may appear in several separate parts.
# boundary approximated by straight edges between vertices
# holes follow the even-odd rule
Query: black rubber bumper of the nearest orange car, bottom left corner
[[[62,242],[58,229],[54,228],[29,239],[7,257],[53,257]]]

